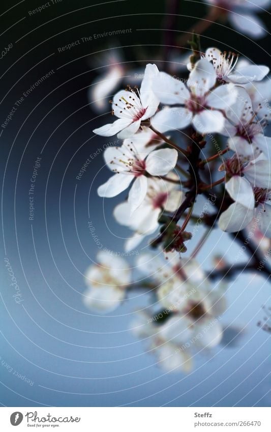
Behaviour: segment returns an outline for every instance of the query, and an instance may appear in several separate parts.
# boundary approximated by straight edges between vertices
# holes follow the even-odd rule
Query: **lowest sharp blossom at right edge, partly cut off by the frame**
[[[271,238],[271,189],[255,187],[253,194],[253,207],[249,200],[246,204],[242,199],[241,204],[237,194],[235,203],[231,204],[219,218],[218,225],[222,231],[235,233],[244,229],[255,218],[261,233]]]

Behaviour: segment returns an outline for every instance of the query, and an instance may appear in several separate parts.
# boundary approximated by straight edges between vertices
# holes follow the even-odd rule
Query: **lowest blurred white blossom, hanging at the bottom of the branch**
[[[192,332],[185,327],[179,316],[169,318],[157,326],[147,314],[138,313],[131,325],[132,332],[144,338],[149,352],[157,356],[157,365],[166,372],[190,372],[192,357],[185,348]]]

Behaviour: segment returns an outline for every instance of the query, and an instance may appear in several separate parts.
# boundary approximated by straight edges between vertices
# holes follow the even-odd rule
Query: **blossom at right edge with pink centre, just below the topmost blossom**
[[[267,114],[257,119],[257,111],[253,111],[251,99],[244,88],[238,88],[236,102],[226,110],[226,116],[223,134],[230,137],[228,146],[231,150],[241,157],[258,157],[263,153],[270,158],[271,138],[263,134]]]

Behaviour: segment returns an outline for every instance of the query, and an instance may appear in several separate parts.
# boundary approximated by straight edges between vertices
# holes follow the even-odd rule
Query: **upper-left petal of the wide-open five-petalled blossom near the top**
[[[153,90],[161,103],[184,104],[190,94],[185,84],[171,75],[160,72],[153,81]]]

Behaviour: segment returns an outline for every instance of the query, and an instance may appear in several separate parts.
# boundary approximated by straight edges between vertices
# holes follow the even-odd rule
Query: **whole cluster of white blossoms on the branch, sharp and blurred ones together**
[[[155,312],[138,313],[132,328],[165,370],[191,370],[193,351],[213,349],[223,338],[225,283],[211,283],[194,254],[180,255],[189,248],[186,227],[197,196],[218,188],[215,222],[222,231],[238,232],[256,221],[261,236],[271,238],[268,72],[213,47],[197,61],[191,56],[186,82],[147,64],[140,88],[128,85],[114,95],[116,120],[94,129],[123,140],[104,151],[112,176],[98,195],[110,198],[130,187],[113,211],[133,232],[125,250],[158,233],[152,246],[161,258],[144,253],[136,262],[156,295],[158,318]],[[207,219],[204,213],[202,222]],[[137,283],[128,263],[106,252],[99,252],[85,279],[85,305],[103,313],[121,305]]]

